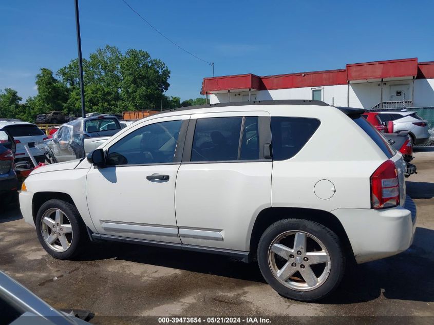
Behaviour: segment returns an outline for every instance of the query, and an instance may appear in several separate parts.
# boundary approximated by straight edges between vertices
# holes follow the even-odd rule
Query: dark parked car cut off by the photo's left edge
[[[5,129],[0,129],[0,204],[9,203],[16,193],[18,179],[14,169],[15,140]]]

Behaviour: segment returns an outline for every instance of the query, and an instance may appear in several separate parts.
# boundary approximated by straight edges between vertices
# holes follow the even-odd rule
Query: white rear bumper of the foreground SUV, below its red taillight
[[[404,206],[384,210],[336,209],[357,263],[399,254],[413,242],[416,205],[407,196]]]

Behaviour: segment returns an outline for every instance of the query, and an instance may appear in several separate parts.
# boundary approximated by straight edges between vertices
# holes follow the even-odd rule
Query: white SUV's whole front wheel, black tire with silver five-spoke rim
[[[37,238],[54,258],[72,259],[88,241],[77,208],[62,200],[48,200],[36,215]]]

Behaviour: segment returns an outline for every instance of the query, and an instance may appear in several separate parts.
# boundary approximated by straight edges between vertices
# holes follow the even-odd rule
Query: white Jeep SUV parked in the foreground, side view
[[[416,226],[402,156],[363,112],[269,101],[156,114],[87,159],[35,169],[21,211],[55,258],[89,238],[257,258],[278,293],[317,300],[346,260],[405,251]]]

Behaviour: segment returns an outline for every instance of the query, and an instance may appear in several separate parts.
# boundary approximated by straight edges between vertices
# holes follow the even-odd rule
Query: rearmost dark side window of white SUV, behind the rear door
[[[272,117],[273,160],[286,160],[295,156],[312,137],[319,124],[317,119]]]

